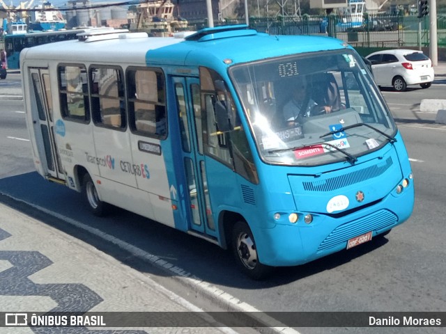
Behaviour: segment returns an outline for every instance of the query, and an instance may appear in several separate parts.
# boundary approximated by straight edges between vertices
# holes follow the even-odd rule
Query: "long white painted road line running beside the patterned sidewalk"
[[[75,219],[69,218],[67,216],[63,216],[62,214],[58,214],[57,212],[53,212],[49,209],[46,209],[45,207],[40,207],[40,205],[36,205],[30,202],[26,202],[25,200],[22,200],[20,198],[15,198],[14,196],[10,196],[6,193],[3,193],[4,195],[13,198],[14,200],[17,200],[18,202],[23,202],[26,205],[30,205],[31,207],[34,207],[38,209],[41,212],[45,212],[46,214],[49,214],[50,216],[54,216],[56,218],[59,218],[66,223],[69,223],[71,225],[74,225],[76,228],[85,230],[91,234],[94,234],[96,237],[100,237],[101,239],[104,239],[106,241],[112,242],[112,244],[115,244],[119,248],[131,253],[134,255],[134,257],[138,257],[141,260],[151,262],[153,265],[155,265],[158,268],[161,268],[162,270],[171,271],[171,273],[174,276],[180,276],[184,280],[187,281],[189,285],[194,285],[198,289],[201,289],[202,291],[213,295],[213,297],[220,301],[220,303],[223,304],[230,304],[233,309],[239,310],[240,312],[254,312],[253,317],[255,316],[255,312],[261,312],[260,310],[254,308],[254,306],[249,305],[248,303],[245,303],[243,301],[240,301],[240,299],[237,299],[236,297],[232,296],[231,294],[228,294],[227,292],[224,292],[222,289],[219,289],[218,287],[215,287],[214,285],[211,285],[201,278],[192,275],[192,273],[189,273],[185,271],[184,269],[180,267],[176,267],[174,264],[171,264],[165,260],[160,259],[160,257],[157,257],[157,255],[153,255],[151,253],[146,252],[145,250],[142,250],[141,248],[138,248],[136,246],[133,246],[132,244],[129,244],[126,241],[123,241],[121,239],[118,239],[110,234],[107,234],[105,232],[102,232],[101,230],[98,230],[97,228],[92,228],[89,225],[86,225],[84,223],[81,223],[79,221],[75,221]],[[174,294],[174,292],[171,292],[171,294]],[[182,297],[178,296],[177,300],[181,300]],[[190,304],[188,301],[184,299],[184,305]],[[190,304],[193,305],[193,304]],[[259,319],[261,322],[264,322],[264,319],[267,319],[268,316],[261,315],[261,318]],[[279,321],[275,319],[271,319],[272,324],[279,324]],[[274,331],[277,334],[300,334],[300,332],[295,331],[294,328],[287,327],[284,324],[279,324],[280,327],[270,327],[272,331]],[[283,325],[283,326],[282,326]],[[223,328],[219,328],[222,330]],[[227,332],[230,333],[232,331],[231,328],[226,328]]]

